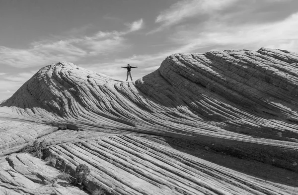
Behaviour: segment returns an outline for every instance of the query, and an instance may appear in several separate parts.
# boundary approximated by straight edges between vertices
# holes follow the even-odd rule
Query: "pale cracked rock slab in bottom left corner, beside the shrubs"
[[[1,195],[88,195],[65,181],[59,171],[30,154],[0,157]]]

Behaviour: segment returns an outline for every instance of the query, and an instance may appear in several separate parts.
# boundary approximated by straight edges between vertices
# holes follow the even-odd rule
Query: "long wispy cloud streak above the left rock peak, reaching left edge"
[[[82,58],[118,52],[130,46],[126,43],[125,35],[141,29],[143,19],[127,25],[129,29],[123,31],[98,31],[91,36],[37,41],[27,49],[0,46],[0,64],[28,68],[56,61],[76,62]]]

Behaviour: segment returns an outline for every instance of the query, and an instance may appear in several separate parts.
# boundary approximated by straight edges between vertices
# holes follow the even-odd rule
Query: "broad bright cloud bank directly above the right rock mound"
[[[200,48],[216,46],[218,49],[258,49],[271,47],[298,52],[298,13],[282,21],[267,24],[243,24],[232,28],[222,20],[192,30],[180,30],[170,37],[179,44],[178,52],[194,52]]]

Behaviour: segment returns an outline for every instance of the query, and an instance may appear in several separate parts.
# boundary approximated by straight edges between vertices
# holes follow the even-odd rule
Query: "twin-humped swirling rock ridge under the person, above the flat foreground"
[[[236,145],[249,154],[243,146],[288,148],[287,167],[298,170],[291,165],[298,150],[297,67],[298,54],[266,48],[174,54],[127,83],[59,62],[40,69],[1,106],[76,130],[216,139],[217,149]]]

